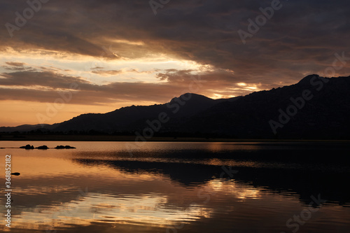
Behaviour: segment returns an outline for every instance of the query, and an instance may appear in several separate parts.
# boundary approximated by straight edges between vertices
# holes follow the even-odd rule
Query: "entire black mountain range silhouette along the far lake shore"
[[[88,113],[54,125],[0,127],[0,132],[40,129],[142,134],[148,128],[157,134],[208,134],[237,139],[350,139],[349,90],[350,76],[311,75],[294,85],[244,97],[210,99],[186,93],[166,104]]]

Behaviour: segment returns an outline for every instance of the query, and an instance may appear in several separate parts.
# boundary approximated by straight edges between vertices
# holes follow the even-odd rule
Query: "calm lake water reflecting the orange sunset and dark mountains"
[[[49,150],[19,149],[30,143]],[[57,145],[76,149],[56,150]],[[349,232],[349,143],[0,141],[0,232]],[[3,192],[4,194],[5,192]]]

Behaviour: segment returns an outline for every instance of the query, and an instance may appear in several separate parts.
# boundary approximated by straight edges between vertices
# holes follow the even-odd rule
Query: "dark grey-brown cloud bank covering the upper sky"
[[[0,46],[100,57],[105,54],[103,46],[113,45],[111,59],[162,53],[211,64],[218,73],[235,71],[230,76],[212,76],[213,81],[266,87],[295,83],[308,73],[323,71],[332,65],[335,52],[350,54],[349,1],[281,4],[244,45],[237,31],[247,31],[248,19],[255,20],[261,14],[259,8],[270,6],[271,1],[172,0],[158,8],[157,15],[144,0],[49,1],[24,27],[13,31],[13,38],[1,27]],[[15,11],[22,13],[27,7],[25,1],[1,1],[2,25],[15,24]],[[348,74],[349,66],[338,72]],[[176,77],[180,76],[172,76]]]

